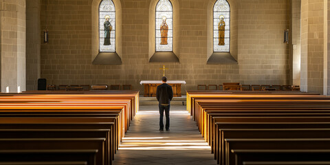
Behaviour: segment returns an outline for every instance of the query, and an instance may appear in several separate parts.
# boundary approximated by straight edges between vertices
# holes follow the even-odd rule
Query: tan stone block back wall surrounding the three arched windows
[[[239,0],[238,65],[206,65],[208,1],[179,3],[179,61],[164,63],[168,80],[186,80],[185,89],[199,84],[289,83],[289,1]],[[50,44],[41,45],[41,77],[48,84],[131,84],[159,80],[163,63],[148,63],[148,10],[151,0],[121,0],[122,65],[91,65],[92,0],[52,0],[47,7]],[[45,1],[41,30],[45,27]],[[96,18],[97,19],[97,18]],[[43,33],[41,32],[41,39]],[[143,92],[142,92],[143,93]]]

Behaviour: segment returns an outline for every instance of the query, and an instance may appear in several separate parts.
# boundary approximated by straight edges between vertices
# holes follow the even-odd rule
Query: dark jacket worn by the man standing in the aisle
[[[156,97],[159,104],[170,104],[170,100],[173,98],[173,90],[170,85],[163,83],[157,87]]]

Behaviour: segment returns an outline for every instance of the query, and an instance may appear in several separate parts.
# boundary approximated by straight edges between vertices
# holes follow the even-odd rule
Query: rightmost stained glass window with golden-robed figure
[[[226,0],[214,3],[213,52],[230,52],[230,6]]]

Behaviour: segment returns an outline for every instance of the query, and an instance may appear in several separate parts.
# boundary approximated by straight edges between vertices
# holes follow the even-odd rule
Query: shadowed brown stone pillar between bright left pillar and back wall
[[[26,90],[38,89],[41,52],[41,0],[26,1]]]

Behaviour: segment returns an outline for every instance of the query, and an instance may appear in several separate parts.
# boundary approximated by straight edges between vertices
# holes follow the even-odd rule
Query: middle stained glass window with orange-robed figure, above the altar
[[[173,51],[173,7],[169,0],[159,0],[155,15],[156,52]]]

